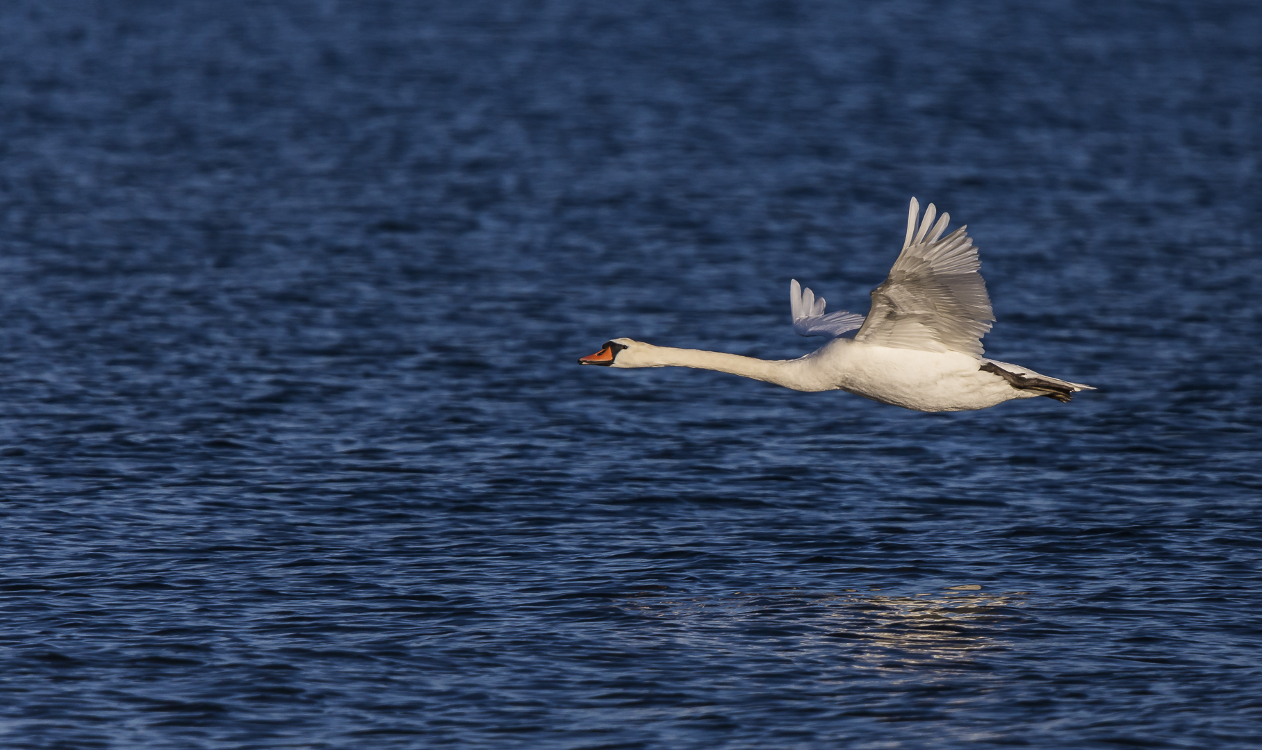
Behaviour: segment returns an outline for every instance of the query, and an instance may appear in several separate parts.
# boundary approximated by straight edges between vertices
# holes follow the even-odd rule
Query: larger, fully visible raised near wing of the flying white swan
[[[854,340],[982,355],[981,339],[994,323],[986,282],[977,272],[982,262],[964,233],[967,227],[943,237],[950,214],[934,224],[936,212],[930,203],[917,222],[920,204],[911,199],[902,253],[885,282],[872,290],[872,310]]]

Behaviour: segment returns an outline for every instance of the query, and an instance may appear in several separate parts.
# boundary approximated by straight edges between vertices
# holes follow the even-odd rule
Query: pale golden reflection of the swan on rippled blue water
[[[642,595],[649,596],[622,601],[621,609],[669,620],[692,637],[764,637],[840,649],[858,668],[987,669],[979,652],[1007,650],[1007,633],[1030,621],[1020,609],[1025,591],[988,594],[977,585],[926,594],[790,589],[723,597]]]

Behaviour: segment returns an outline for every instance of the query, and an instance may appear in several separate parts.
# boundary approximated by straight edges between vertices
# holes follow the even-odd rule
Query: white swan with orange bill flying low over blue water
[[[789,284],[793,326],[832,340],[798,359],[756,359],[723,352],[655,347],[628,338],[606,342],[579,364],[615,368],[693,367],[766,381],[795,391],[847,391],[916,411],[968,411],[1013,398],[1046,396],[1068,402],[1090,386],[1039,374],[982,357],[982,337],[994,321],[977,247],[960,227],[943,237],[933,203],[920,218],[915,198],[907,236],[890,275],[872,290],[867,316],[824,314],[824,299]],[[853,338],[842,334],[858,329]]]

